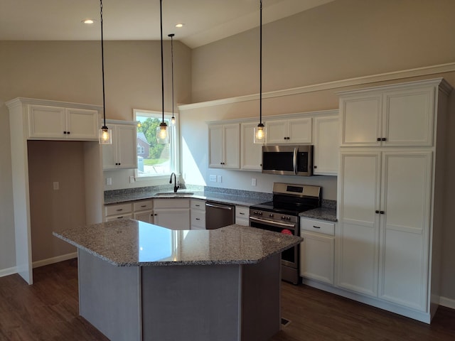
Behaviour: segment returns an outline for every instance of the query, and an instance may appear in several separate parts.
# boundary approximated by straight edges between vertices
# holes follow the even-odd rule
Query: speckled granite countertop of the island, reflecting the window
[[[115,266],[255,264],[303,240],[237,224],[173,230],[130,219],[74,227],[53,235]]]

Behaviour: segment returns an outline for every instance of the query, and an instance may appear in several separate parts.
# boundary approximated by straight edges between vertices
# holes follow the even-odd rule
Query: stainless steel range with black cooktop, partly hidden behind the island
[[[291,183],[273,184],[273,201],[250,206],[250,226],[300,235],[299,213],[321,206],[322,188]],[[299,283],[299,245],[282,252],[282,279]]]

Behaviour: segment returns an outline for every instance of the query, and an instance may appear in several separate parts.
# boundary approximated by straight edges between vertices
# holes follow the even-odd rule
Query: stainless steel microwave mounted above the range
[[[262,173],[279,175],[313,175],[314,146],[262,146]]]

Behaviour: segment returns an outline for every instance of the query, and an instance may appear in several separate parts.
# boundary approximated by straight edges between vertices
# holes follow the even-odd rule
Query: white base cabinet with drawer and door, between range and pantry
[[[333,285],[335,260],[335,224],[300,219],[300,276]]]

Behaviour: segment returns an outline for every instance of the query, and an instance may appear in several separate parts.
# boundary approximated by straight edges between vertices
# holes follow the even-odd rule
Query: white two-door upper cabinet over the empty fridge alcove
[[[30,105],[28,138],[97,140],[98,112],[90,109]]]

